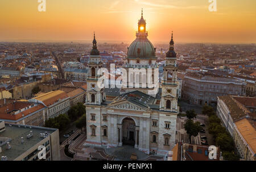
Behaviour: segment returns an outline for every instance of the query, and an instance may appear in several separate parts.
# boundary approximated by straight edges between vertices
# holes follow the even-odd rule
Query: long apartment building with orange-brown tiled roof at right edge
[[[256,114],[250,111],[254,103],[255,98],[232,95],[218,97],[217,116],[233,136],[242,160],[256,160]]]

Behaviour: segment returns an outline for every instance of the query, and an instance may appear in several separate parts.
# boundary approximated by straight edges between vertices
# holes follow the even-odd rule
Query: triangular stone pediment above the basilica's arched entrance
[[[108,109],[119,109],[119,110],[130,110],[130,111],[142,111],[142,112],[146,112],[146,111],[150,111],[149,108],[147,107],[142,107],[139,106],[137,104],[128,102],[127,100],[121,100],[118,102],[114,102],[109,104],[109,106],[107,107]]]

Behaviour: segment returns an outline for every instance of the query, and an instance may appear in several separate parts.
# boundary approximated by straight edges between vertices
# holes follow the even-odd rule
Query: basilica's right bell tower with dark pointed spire
[[[176,53],[174,51],[173,33],[170,41],[169,51],[166,53],[166,64],[164,65],[162,81],[162,97],[160,110],[178,111],[177,107],[177,66]]]

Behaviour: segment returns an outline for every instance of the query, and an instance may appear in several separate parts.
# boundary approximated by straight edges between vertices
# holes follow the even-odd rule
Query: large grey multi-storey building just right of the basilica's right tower
[[[183,78],[182,98],[192,104],[217,103],[218,96],[245,95],[245,86],[240,79],[191,72]]]

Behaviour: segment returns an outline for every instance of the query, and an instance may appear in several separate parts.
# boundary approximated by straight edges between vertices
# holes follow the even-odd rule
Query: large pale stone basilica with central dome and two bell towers
[[[127,144],[147,154],[166,154],[175,145],[176,118],[179,114],[179,83],[173,36],[166,53],[162,81],[159,81],[158,77],[156,48],[147,38],[143,14],[138,22],[136,36],[128,48],[127,62],[123,64],[123,69],[140,70],[127,72],[128,79],[123,81],[125,84],[119,89],[119,94],[112,100],[107,100],[105,87],[98,85],[102,82],[102,74],[99,74],[98,70],[103,68],[103,62],[94,34],[84,104],[87,134],[85,144],[107,148]],[[142,69],[146,73],[142,74]],[[150,86],[147,78],[152,78],[153,83],[157,84]],[[126,84],[128,82],[129,86]]]

